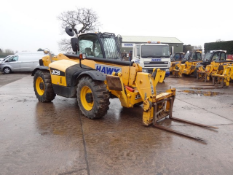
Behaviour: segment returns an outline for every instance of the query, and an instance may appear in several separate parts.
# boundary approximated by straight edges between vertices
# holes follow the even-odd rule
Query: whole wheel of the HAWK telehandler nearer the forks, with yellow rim
[[[87,94],[89,94],[89,100],[87,99]],[[109,96],[103,81],[94,81],[86,76],[78,82],[78,105],[82,114],[90,119],[102,118],[107,113],[110,104]]]

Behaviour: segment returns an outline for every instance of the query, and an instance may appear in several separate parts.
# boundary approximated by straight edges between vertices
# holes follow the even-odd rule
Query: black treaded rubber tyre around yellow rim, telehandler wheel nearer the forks
[[[80,99],[80,92],[83,86],[88,86],[93,95],[94,105],[90,111],[84,109]],[[88,76],[81,78],[77,86],[77,101],[83,115],[90,119],[102,118],[109,109],[109,92],[102,81],[95,81]]]

